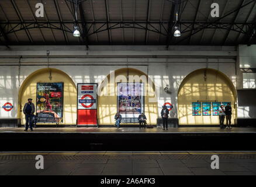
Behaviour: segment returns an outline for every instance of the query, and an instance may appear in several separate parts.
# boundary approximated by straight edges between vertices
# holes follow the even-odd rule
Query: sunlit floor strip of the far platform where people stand
[[[6,128],[1,127],[0,133],[32,133],[23,131],[24,127]],[[139,127],[38,127],[33,133],[256,133],[255,127],[233,127],[232,129],[220,129],[219,127],[169,127],[168,130],[162,130],[162,127],[152,129],[139,129]]]

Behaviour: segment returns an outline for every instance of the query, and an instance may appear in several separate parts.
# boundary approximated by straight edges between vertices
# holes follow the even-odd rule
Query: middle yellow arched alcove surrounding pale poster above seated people
[[[127,77],[129,78],[127,79]],[[136,79],[133,81],[134,83],[144,83],[144,113],[147,116],[147,123],[157,124],[158,109],[154,83],[150,78],[148,78],[147,74],[134,68],[121,68],[116,70],[113,72],[113,74],[109,74],[102,81],[101,85],[99,85],[99,124],[104,125],[115,123],[114,117],[117,112],[117,82],[126,83],[127,80],[130,82],[132,78]]]

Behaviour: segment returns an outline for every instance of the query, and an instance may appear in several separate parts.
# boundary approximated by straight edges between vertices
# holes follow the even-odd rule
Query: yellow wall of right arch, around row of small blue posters
[[[234,124],[234,119],[237,116],[236,89],[230,79],[221,72],[212,69],[193,71],[185,77],[179,87],[179,124],[219,124],[219,116],[192,116],[192,102],[215,100],[217,102],[231,101],[233,108],[231,122]]]

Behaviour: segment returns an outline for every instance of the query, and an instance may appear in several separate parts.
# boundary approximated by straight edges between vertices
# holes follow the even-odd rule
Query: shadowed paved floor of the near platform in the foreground
[[[35,168],[39,154],[44,169]],[[0,152],[0,175],[256,175],[256,152]]]

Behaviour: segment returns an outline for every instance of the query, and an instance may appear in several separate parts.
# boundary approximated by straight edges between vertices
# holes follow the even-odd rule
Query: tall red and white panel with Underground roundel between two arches
[[[97,125],[97,84],[77,84],[77,125]]]

